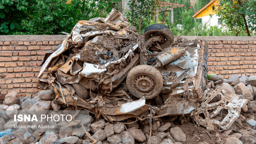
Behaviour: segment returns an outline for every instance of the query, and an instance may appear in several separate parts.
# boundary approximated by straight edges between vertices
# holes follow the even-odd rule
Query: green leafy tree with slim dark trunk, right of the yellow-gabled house
[[[224,26],[233,31],[235,36],[245,32],[256,31],[256,1],[255,0],[219,0],[217,15],[222,18]]]

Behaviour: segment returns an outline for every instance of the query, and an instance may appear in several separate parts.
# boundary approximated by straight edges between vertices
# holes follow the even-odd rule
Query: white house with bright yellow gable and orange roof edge
[[[212,0],[202,9],[200,9],[197,13],[195,13],[192,17],[196,17],[197,19],[202,19],[202,24],[207,23],[207,27],[210,26],[218,26],[221,27],[221,19],[217,16],[216,10],[218,8],[219,1]],[[212,15],[212,17],[210,16]]]

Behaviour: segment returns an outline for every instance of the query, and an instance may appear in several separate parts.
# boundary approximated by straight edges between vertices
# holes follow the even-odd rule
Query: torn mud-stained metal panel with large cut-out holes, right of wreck
[[[229,127],[235,122],[239,117],[241,109],[249,101],[248,99],[239,99],[236,94],[230,94],[229,92],[222,90],[219,86],[215,90],[206,90],[206,97],[200,104],[197,110],[191,112],[191,117],[198,124],[205,126],[207,129],[214,130],[214,127],[220,127],[221,129],[228,130]],[[221,95],[221,100],[218,102],[209,102],[216,97]],[[227,104],[228,103],[228,104]],[[211,113],[208,110],[212,110]],[[222,109],[227,109],[228,114],[218,121],[214,117],[221,112]],[[203,113],[205,118],[201,117],[199,114]]]

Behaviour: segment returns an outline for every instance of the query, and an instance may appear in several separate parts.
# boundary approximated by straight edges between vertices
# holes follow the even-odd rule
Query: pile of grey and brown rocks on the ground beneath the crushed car
[[[68,126],[68,122],[38,122],[37,125],[54,125],[55,128],[46,131],[38,129],[15,129],[14,125],[24,124],[14,121],[14,114],[23,110],[39,110],[41,113],[58,113],[59,110],[72,110],[65,105],[59,105],[54,101],[52,90],[39,92],[35,97],[18,97],[11,92],[6,95],[4,104],[0,105],[0,131],[14,129],[13,134],[0,137],[0,143],[52,143],[52,144],[89,144],[97,140],[97,144],[181,144],[181,143],[256,143],[256,77],[233,75],[224,79],[220,75],[211,75],[206,88],[214,89],[220,85],[222,89],[233,94],[239,94],[240,98],[250,101],[243,107],[240,117],[227,131],[211,131],[202,126],[193,124],[192,119],[184,115],[175,117],[160,117],[152,119],[150,128],[149,119],[134,122],[135,119],[109,123],[102,119],[94,118],[94,115],[78,114],[75,120],[82,121],[84,126],[90,125],[86,131],[82,127]],[[35,122],[33,122],[35,123]],[[33,124],[32,122],[30,125]],[[150,137],[151,129],[151,137]]]

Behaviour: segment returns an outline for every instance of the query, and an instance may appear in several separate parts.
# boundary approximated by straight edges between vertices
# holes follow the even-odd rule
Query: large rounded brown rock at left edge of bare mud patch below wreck
[[[173,127],[170,129],[170,134],[173,137],[175,141],[178,142],[186,142],[186,134],[183,132],[183,130],[180,127]]]

